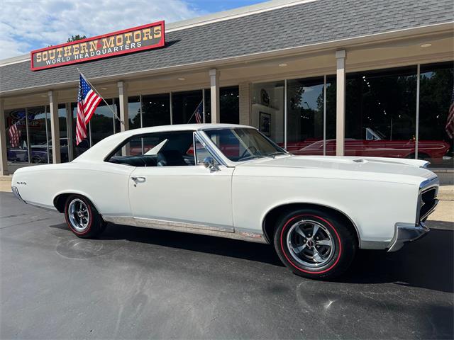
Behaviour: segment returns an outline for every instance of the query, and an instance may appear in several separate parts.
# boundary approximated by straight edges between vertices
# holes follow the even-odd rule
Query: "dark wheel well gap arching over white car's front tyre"
[[[317,210],[322,210],[326,212],[330,212],[333,215],[336,215],[339,219],[343,220],[345,222],[345,225],[347,225],[350,229],[352,229],[353,234],[355,234],[356,242],[359,244],[359,234],[358,234],[358,229],[356,229],[355,225],[353,224],[352,220],[345,215],[343,212],[340,212],[339,210],[333,209],[326,207],[324,205],[318,205],[318,204],[309,204],[309,203],[291,203],[291,204],[285,204],[285,205],[279,205],[276,208],[273,208],[269,212],[267,212],[267,215],[265,216],[265,219],[263,220],[263,233],[265,234],[265,239],[267,242],[272,244],[273,242],[273,237],[274,237],[274,231],[276,227],[276,222],[279,219],[279,217],[287,212],[291,212],[293,210],[297,209],[317,209]]]

